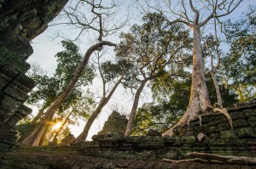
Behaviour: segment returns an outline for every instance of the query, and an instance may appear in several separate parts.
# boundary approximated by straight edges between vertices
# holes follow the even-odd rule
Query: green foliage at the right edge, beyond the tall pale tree
[[[230,51],[224,58],[223,71],[229,87],[240,96],[240,101],[256,97],[256,21],[255,8],[235,23],[224,23],[224,33]]]

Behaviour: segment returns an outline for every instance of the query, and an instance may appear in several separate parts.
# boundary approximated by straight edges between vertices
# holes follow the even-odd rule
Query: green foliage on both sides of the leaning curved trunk
[[[42,75],[41,72],[31,73],[32,79],[37,82],[37,87],[30,93],[30,98],[27,100],[28,104],[37,104],[43,100],[42,107],[44,109],[49,107],[72,80],[73,73],[81,63],[83,56],[79,54],[79,48],[73,42],[62,41],[62,46],[65,50],[55,55],[58,64],[54,76]],[[92,82],[94,76],[94,69],[91,66],[86,66],[79,82],[61,104],[60,112],[79,102],[82,96],[81,86],[86,86]]]

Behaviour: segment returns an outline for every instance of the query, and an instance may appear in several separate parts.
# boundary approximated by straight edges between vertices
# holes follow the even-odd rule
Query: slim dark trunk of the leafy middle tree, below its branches
[[[133,121],[135,119],[135,115],[137,112],[137,104],[139,102],[140,95],[143,91],[143,87],[145,86],[145,84],[147,82],[148,82],[148,80],[144,80],[141,83],[140,87],[138,87],[137,92],[135,93],[134,101],[133,101],[132,108],[131,108],[131,113],[130,113],[129,120],[128,120],[126,130],[125,130],[125,136],[131,136],[132,125],[133,125]]]

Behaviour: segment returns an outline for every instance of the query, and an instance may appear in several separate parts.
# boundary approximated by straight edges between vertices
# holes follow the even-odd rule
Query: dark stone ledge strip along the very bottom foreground
[[[108,159],[84,155],[67,155],[50,153],[8,153],[0,154],[0,165],[2,169],[89,169],[89,168],[127,168],[127,169],[167,169],[167,168],[255,168],[255,166],[206,163],[206,162],[166,162],[161,159],[151,158],[148,161]]]

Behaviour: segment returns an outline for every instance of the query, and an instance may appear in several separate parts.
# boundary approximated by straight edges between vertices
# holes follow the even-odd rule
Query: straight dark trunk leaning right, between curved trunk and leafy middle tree
[[[115,89],[119,86],[119,84],[122,82],[123,80],[123,76],[119,78],[119,81],[115,83],[115,85],[113,86],[112,90],[110,91],[110,93],[108,93],[108,96],[106,98],[103,98],[101,103],[98,105],[98,107],[96,108],[96,110],[92,113],[92,115],[90,115],[90,118],[88,119],[88,121],[86,122],[86,125],[84,127],[83,132],[81,132],[79,134],[79,136],[75,139],[75,143],[79,143],[79,142],[83,142],[86,140],[87,136],[88,136],[88,132],[90,130],[90,127],[93,123],[93,121],[96,120],[97,115],[100,114],[100,112],[102,111],[102,108],[108,104],[109,99],[112,97]]]

